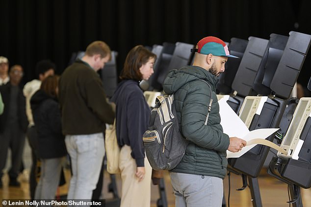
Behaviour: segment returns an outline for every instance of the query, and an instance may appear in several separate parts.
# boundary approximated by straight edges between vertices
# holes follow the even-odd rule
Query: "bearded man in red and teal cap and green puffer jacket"
[[[226,44],[206,37],[196,46],[194,63],[174,69],[163,89],[174,93],[182,135],[189,140],[181,162],[170,171],[176,207],[221,207],[226,150],[238,152],[246,141],[223,133],[216,96],[218,76],[230,55]]]

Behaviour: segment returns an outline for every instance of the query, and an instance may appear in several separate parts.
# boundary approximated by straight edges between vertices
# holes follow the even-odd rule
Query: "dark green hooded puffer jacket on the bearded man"
[[[199,79],[209,82],[210,86]],[[226,176],[229,137],[220,125],[217,82],[216,76],[198,66],[171,70],[166,77],[164,92],[174,93],[180,130],[189,140],[184,157],[172,172],[222,179]],[[205,125],[211,99],[211,110]]]

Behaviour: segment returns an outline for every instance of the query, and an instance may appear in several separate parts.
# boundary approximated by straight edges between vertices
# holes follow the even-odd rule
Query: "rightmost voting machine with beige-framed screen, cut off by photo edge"
[[[287,184],[311,187],[311,98],[301,98],[281,147],[270,162],[268,174]]]

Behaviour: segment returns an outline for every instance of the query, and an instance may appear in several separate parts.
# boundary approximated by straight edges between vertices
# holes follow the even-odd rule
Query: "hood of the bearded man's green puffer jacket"
[[[181,69],[171,70],[164,80],[163,91],[167,94],[172,94],[178,91],[184,84],[199,79],[211,83],[212,90],[216,91],[218,78],[199,66],[185,66]]]

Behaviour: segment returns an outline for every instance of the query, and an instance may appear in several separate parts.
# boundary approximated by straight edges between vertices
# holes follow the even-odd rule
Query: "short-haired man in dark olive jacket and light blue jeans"
[[[90,200],[99,179],[105,123],[113,124],[115,115],[97,71],[109,59],[109,46],[95,41],[87,46],[81,59],[65,69],[59,80],[62,131],[73,173],[68,200]]]

